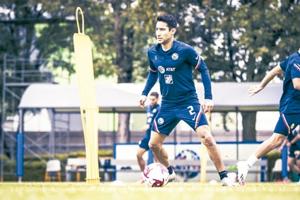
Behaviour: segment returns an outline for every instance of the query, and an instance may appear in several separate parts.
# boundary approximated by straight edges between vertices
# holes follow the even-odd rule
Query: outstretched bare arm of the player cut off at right
[[[263,88],[265,88],[265,86],[267,86],[267,83],[269,83],[270,81],[272,81],[272,79],[275,78],[275,76],[279,75],[280,73],[284,73],[284,71],[282,70],[282,68],[278,64],[269,73],[267,73],[267,75],[265,76],[265,78],[262,78],[262,81],[260,82],[259,85],[251,86],[248,89],[248,95],[249,95],[249,97],[255,95],[258,92],[260,92],[260,90],[262,90]]]

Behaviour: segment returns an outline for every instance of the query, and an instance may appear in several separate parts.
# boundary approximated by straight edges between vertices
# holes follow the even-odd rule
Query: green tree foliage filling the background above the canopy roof
[[[142,81],[156,16],[178,19],[178,40],[204,57],[214,81],[258,81],[299,49],[299,1],[1,1],[1,54],[52,58],[74,73],[72,35],[81,6],[93,41],[95,76]],[[80,17],[80,16],[79,16]]]

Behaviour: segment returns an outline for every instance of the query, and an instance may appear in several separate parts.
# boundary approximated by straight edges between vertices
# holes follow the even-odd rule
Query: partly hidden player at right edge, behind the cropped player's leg
[[[279,147],[279,152],[285,145],[289,148],[289,156],[287,157],[289,169],[300,177],[300,134],[296,130],[292,131]],[[300,181],[298,183],[300,184]]]

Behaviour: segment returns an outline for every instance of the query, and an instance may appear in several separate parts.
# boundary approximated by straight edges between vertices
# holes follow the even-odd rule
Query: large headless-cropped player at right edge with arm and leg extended
[[[249,96],[260,92],[275,76],[284,73],[283,93],[279,102],[279,119],[272,136],[258,146],[248,160],[238,162],[238,182],[245,183],[248,170],[262,155],[281,145],[300,124],[300,49],[275,66],[259,85],[248,89]]]

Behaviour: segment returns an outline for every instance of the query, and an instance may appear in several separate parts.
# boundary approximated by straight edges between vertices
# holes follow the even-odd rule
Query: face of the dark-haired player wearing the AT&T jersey
[[[156,23],[156,38],[158,44],[166,45],[169,42],[173,42],[173,35],[175,33],[175,28],[169,30],[167,23],[158,21]]]

